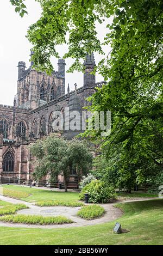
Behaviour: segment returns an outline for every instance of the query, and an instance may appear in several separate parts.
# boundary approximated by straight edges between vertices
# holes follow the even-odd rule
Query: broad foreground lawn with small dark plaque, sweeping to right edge
[[[82,228],[32,229],[0,227],[0,245],[162,245],[163,200],[117,204],[124,234],[114,234],[116,221]]]

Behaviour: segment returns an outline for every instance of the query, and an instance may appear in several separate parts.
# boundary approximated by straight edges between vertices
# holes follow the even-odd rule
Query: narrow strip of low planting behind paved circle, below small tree
[[[79,207],[84,205],[81,202],[77,201],[60,201],[60,200],[48,200],[48,201],[39,201],[35,203],[38,206],[68,206],[68,207]]]

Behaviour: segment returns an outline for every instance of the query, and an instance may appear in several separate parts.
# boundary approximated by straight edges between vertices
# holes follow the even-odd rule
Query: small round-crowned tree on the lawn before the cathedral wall
[[[30,146],[36,157],[33,175],[41,179],[47,174],[55,180],[59,173],[64,174],[65,192],[67,192],[67,177],[71,167],[77,168],[77,173],[87,172],[92,163],[92,155],[84,142],[77,139],[66,141],[56,135],[37,141]]]

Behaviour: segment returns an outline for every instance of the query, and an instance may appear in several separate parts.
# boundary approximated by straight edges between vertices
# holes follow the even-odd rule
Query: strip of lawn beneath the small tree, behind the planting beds
[[[56,192],[51,190],[41,190],[38,188],[4,185],[8,189],[29,193],[29,197],[21,198],[26,202],[42,201],[42,200],[78,200],[79,193],[77,192]]]

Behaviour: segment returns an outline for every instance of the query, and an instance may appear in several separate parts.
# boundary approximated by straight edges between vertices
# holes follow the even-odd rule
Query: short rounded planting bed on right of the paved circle
[[[94,204],[83,206],[83,208],[77,212],[77,215],[85,218],[86,220],[92,220],[93,218],[101,217],[104,212],[105,210],[102,206]]]

